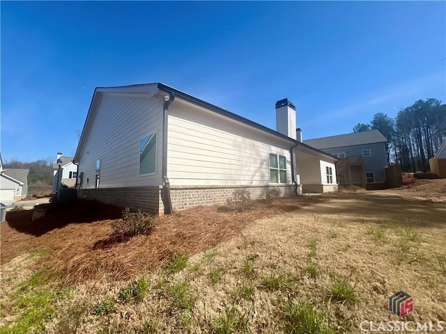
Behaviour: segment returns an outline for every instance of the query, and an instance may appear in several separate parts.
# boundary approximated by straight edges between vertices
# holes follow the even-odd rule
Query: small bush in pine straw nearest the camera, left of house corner
[[[112,222],[114,232],[121,239],[129,239],[137,234],[151,234],[155,228],[155,217],[147,212],[131,212],[128,207],[123,210],[123,218]]]

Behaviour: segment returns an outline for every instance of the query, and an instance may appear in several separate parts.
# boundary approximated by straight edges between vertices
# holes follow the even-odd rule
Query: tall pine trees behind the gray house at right
[[[396,118],[376,113],[368,123],[358,123],[353,132],[378,129],[387,138],[387,161],[403,171],[429,170],[433,157],[446,138],[446,104],[430,98],[402,109]]]

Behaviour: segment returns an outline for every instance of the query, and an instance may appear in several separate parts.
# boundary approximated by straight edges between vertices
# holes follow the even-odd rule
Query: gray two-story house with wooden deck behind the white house
[[[309,139],[304,143],[340,159],[336,164],[339,184],[356,184],[366,189],[385,187],[387,139],[378,130]]]

